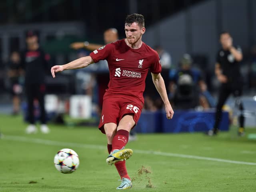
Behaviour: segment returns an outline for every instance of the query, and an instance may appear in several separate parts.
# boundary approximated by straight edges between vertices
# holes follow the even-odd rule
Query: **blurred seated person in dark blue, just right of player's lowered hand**
[[[213,98],[200,70],[192,68],[192,62],[191,56],[184,54],[180,60],[180,68],[170,71],[169,99],[178,109],[192,109],[199,104],[204,109],[210,108],[214,104]]]

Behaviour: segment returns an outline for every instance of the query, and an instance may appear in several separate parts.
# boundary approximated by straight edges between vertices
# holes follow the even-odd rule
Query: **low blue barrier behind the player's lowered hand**
[[[205,132],[213,128],[214,116],[214,111],[198,112],[176,110],[172,120],[168,120],[166,113],[163,111],[144,111],[134,129],[138,133]],[[228,112],[223,112],[220,130],[229,130]]]

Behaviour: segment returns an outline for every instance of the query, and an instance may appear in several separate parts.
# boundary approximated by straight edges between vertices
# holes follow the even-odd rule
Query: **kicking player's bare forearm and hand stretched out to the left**
[[[62,72],[68,69],[79,69],[89,66],[90,64],[94,63],[91,56],[81,57],[76,59],[68,64],[64,65],[55,65],[51,68],[52,77],[55,78],[55,73]]]

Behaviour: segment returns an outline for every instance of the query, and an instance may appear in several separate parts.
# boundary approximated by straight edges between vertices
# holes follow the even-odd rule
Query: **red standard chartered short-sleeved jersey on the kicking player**
[[[107,60],[110,81],[104,98],[127,98],[144,104],[143,92],[148,70],[161,72],[158,53],[144,42],[138,49],[130,48],[124,39],[107,44],[90,53],[94,62]]]

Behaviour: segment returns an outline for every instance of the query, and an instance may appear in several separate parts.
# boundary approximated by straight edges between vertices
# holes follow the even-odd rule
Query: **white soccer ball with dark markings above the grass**
[[[54,157],[54,165],[59,172],[72,173],[79,166],[78,154],[72,149],[62,149]]]

